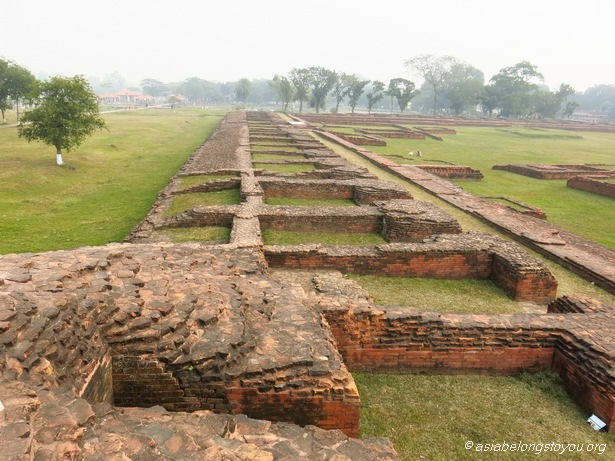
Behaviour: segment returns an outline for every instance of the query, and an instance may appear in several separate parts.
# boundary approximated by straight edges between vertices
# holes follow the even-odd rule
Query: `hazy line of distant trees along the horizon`
[[[271,79],[213,82],[191,77],[165,83],[147,78],[140,82],[145,94],[176,103],[194,105],[224,104],[237,107],[276,106],[282,111],[330,111],[354,113],[356,110],[429,114],[482,115],[566,119],[575,110],[607,113],[615,120],[615,85],[597,85],[583,93],[562,83],[549,89],[537,67],[528,61],[501,69],[485,82],[479,69],[452,56],[420,55],[405,61],[408,75],[389,82],[365,79],[356,74],[324,67],[293,68]],[[23,99],[36,81],[25,68],[0,59],[0,112]],[[417,84],[418,82],[418,84]],[[90,79],[98,93],[126,88],[125,79],[110,74],[100,81]]]

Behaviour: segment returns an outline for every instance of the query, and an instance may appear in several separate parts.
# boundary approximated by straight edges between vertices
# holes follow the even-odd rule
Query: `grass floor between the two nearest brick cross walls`
[[[381,305],[453,313],[522,313],[490,280],[442,280],[348,274]]]

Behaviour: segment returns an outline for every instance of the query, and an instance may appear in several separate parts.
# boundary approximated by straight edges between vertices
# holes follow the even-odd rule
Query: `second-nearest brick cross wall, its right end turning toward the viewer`
[[[470,245],[467,234],[451,234],[442,243],[394,243],[375,247],[321,245],[268,246],[270,267],[334,269],[343,273],[393,277],[491,279],[516,301],[547,303],[557,292],[548,268],[511,243]]]

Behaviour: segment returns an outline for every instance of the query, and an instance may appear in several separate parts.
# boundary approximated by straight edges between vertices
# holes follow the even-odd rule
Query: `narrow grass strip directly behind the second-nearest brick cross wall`
[[[333,232],[289,232],[266,229],[263,232],[265,245],[380,245],[386,240],[379,234],[348,234]]]

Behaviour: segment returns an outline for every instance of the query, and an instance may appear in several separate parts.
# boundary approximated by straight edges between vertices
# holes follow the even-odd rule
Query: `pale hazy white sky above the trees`
[[[613,0],[6,0],[0,57],[35,75],[137,83],[272,78],[323,66],[388,82],[449,54],[489,80],[527,60],[545,82],[615,85]]]

